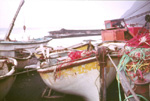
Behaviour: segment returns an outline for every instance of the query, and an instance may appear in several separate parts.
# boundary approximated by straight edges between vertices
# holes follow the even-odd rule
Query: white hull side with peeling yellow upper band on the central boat
[[[114,58],[119,63],[117,57]],[[110,61],[107,61],[107,87],[115,79],[116,71]],[[57,72],[47,69],[39,69],[38,72],[45,84],[59,92],[75,94],[87,101],[99,101],[100,73],[96,60],[79,66],[69,66],[66,69],[58,69]],[[55,69],[54,69],[55,70]]]

